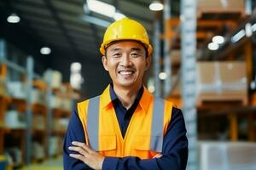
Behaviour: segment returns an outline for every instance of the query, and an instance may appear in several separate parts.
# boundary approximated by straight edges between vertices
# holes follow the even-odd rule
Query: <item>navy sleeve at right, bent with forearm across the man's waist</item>
[[[102,170],[185,170],[188,161],[188,139],[183,113],[172,108],[172,119],[163,141],[163,152],[160,158],[141,160],[138,157],[106,157]]]

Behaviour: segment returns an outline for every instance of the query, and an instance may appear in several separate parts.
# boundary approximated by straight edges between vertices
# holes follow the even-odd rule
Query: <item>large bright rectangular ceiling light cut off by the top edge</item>
[[[87,6],[91,11],[108,17],[113,17],[115,14],[115,7],[108,3],[102,3],[101,1],[96,0],[87,0]]]

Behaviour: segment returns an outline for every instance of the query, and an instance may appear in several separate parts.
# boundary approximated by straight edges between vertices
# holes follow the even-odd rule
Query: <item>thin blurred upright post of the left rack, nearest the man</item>
[[[47,74],[46,77],[46,83],[47,83],[47,92],[46,92],[46,108],[47,108],[47,126],[46,126],[46,133],[47,133],[47,156],[50,156],[50,151],[49,151],[49,144],[50,144],[50,137],[51,137],[51,131],[52,131],[52,110],[51,110],[51,94],[52,94],[52,90],[51,90],[51,77],[52,77],[52,71],[49,70],[49,73]]]

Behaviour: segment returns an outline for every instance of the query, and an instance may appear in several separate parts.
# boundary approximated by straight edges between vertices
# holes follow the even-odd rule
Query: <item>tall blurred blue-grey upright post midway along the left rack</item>
[[[32,158],[32,79],[34,61],[32,56],[26,59],[26,164],[31,163]]]

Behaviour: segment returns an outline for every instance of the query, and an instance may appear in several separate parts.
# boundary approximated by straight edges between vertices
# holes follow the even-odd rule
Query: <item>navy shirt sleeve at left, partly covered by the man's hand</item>
[[[63,144],[63,166],[64,170],[85,170],[91,169],[83,161],[70,157],[69,154],[74,153],[68,150],[72,145],[72,141],[79,141],[85,143],[84,129],[80,122],[78,111],[73,111],[73,114],[68,122],[67,133],[65,135]]]

